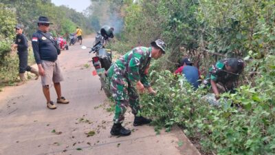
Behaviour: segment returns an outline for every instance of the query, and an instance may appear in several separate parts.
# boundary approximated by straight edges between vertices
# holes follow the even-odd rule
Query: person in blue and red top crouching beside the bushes
[[[185,76],[186,80],[195,87],[195,89],[199,87],[199,70],[195,66],[192,66],[190,59],[187,57],[181,60],[181,67],[175,70],[175,74],[182,74]]]

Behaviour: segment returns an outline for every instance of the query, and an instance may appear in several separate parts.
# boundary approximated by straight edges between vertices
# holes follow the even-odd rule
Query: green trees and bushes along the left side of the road
[[[8,14],[8,16],[7,16]],[[14,26],[17,23],[24,25],[23,32],[30,37],[37,30],[36,21],[39,16],[50,19],[50,31],[54,36],[76,31],[76,25],[89,34],[91,25],[84,14],[76,12],[65,6],[54,6],[51,1],[26,0],[10,1],[2,0],[0,3],[0,83],[13,83],[18,75],[18,56],[10,53],[10,47],[15,38]],[[29,45],[31,47],[31,45]],[[31,48],[30,48],[31,49]],[[32,51],[29,51],[29,64],[34,63]]]

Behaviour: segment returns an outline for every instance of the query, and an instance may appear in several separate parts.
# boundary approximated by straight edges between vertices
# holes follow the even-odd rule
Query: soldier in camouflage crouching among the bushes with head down
[[[216,65],[212,65],[210,68],[204,84],[210,85],[216,99],[219,99],[217,83],[220,83],[226,92],[233,91],[234,82],[239,78],[239,74],[243,72],[243,68],[244,62],[242,59],[230,58],[218,61]]]

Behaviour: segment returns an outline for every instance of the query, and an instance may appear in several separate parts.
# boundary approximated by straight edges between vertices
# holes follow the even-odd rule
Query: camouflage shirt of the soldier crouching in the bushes
[[[228,81],[236,81],[238,75],[232,74],[225,70],[225,62],[227,59],[218,61],[215,65],[209,69],[208,79],[215,81],[216,83],[228,83]]]

